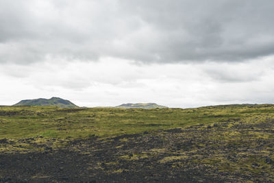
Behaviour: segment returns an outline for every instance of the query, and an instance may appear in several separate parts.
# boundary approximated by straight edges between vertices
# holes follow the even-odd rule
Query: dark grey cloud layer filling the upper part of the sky
[[[0,1],[0,63],[240,62],[274,53],[274,1]]]

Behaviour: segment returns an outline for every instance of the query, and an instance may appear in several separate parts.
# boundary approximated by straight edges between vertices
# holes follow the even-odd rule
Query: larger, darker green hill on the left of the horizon
[[[51,99],[29,99],[21,100],[13,106],[58,106],[60,108],[77,108],[74,103],[69,100],[64,100],[58,97]]]

